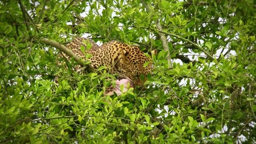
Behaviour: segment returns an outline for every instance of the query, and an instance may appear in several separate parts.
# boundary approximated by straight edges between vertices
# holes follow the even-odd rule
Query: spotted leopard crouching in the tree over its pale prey
[[[142,52],[138,46],[109,41],[98,46],[89,38],[75,38],[66,47],[84,61],[90,62],[90,67],[97,70],[105,66],[111,74],[117,74],[117,79],[129,79],[133,86],[143,86],[147,74],[152,70],[151,58]],[[84,48],[84,52],[81,49]],[[87,58],[87,54],[90,56]],[[70,59],[65,53],[64,58]],[[81,70],[81,65],[76,65],[75,70]],[[108,91],[111,91],[109,88]]]

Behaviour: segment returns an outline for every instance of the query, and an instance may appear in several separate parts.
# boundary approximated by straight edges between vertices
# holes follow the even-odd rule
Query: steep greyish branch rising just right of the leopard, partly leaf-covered
[[[154,11],[151,10],[148,5],[145,3],[144,0],[141,0],[141,3],[144,5],[144,7],[146,8],[148,13],[153,13]],[[162,31],[162,26],[160,25],[159,20],[157,20],[156,22],[156,28],[159,31]],[[168,67],[172,68],[172,61],[171,61],[171,55],[169,52],[169,47],[168,47],[168,43],[167,43],[167,38],[165,37],[165,35],[162,32],[158,32],[159,36],[160,36],[160,40],[162,41],[163,44],[163,49],[168,52]]]

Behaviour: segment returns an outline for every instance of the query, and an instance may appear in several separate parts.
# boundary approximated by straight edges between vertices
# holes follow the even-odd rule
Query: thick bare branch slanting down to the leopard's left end
[[[82,67],[87,67],[87,65],[85,65],[84,61],[82,61],[82,59],[80,59],[77,55],[75,55],[75,53],[73,53],[71,50],[67,49],[67,47],[62,46],[62,44],[53,41],[53,40],[49,40],[47,38],[42,38],[40,40],[41,42],[48,44],[49,46],[55,47],[56,49],[61,50],[61,52],[66,53],[70,58],[74,58],[76,62],[78,62],[79,65],[81,65]]]

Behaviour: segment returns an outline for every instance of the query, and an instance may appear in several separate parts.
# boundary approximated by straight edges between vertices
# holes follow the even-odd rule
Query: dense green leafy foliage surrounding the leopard
[[[251,0],[0,1],[0,143],[255,143],[255,7]],[[41,41],[84,34],[156,49],[145,88],[113,95],[110,104],[108,73],[57,67],[59,50]]]

